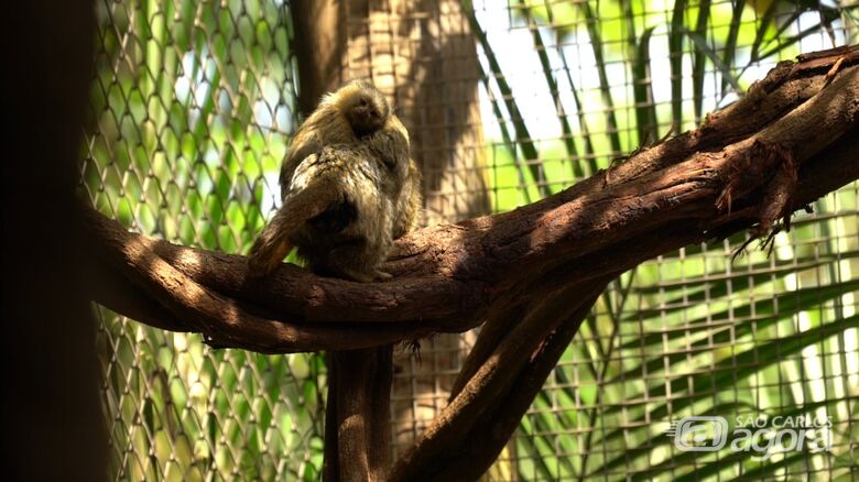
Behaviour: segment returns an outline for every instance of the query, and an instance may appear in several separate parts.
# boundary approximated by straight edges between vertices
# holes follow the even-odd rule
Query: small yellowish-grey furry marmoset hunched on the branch
[[[417,223],[420,178],[379,90],[357,81],[325,96],[290,143],[283,206],[251,248],[250,274],[270,273],[294,247],[317,274],[390,278],[379,266]]]

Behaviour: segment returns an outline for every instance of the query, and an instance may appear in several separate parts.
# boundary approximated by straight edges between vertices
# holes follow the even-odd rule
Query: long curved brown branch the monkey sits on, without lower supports
[[[859,177],[859,67],[848,58],[829,83],[837,57],[780,64],[697,131],[555,196],[401,239],[385,265],[396,275],[389,283],[323,278],[289,264],[250,281],[243,256],[132,234],[89,209],[87,244],[106,261],[94,263],[96,276],[143,291],[95,283],[91,296],[215,346],[263,352],[464,331],[515,286],[523,296],[584,286],[682,245],[760,233]]]

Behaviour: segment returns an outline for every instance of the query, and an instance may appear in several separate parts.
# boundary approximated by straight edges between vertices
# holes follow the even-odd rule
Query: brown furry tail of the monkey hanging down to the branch
[[[340,190],[325,177],[317,178],[305,188],[292,193],[278,209],[274,218],[263,228],[248,254],[248,274],[264,276],[278,267],[293,250],[290,238],[309,219],[339,201]]]

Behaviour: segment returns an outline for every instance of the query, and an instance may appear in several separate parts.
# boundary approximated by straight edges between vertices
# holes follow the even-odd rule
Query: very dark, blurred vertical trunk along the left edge
[[[107,480],[96,324],[83,287],[77,162],[93,78],[87,0],[6,7],[3,478]]]

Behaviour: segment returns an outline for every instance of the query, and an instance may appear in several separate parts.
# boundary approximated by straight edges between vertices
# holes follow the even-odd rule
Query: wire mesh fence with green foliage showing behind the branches
[[[427,222],[557,193],[693,129],[779,59],[856,42],[837,2],[350,1],[347,77],[398,106]],[[81,190],[129,229],[246,252],[301,121],[290,6],[104,1]],[[844,479],[859,464],[859,186],[772,252],[687,247],[600,297],[492,480]],[[100,309],[117,480],[316,480],[318,354],[211,350]],[[395,451],[445,405],[474,333],[398,358]],[[678,450],[684,416],[826,418],[828,450]]]

